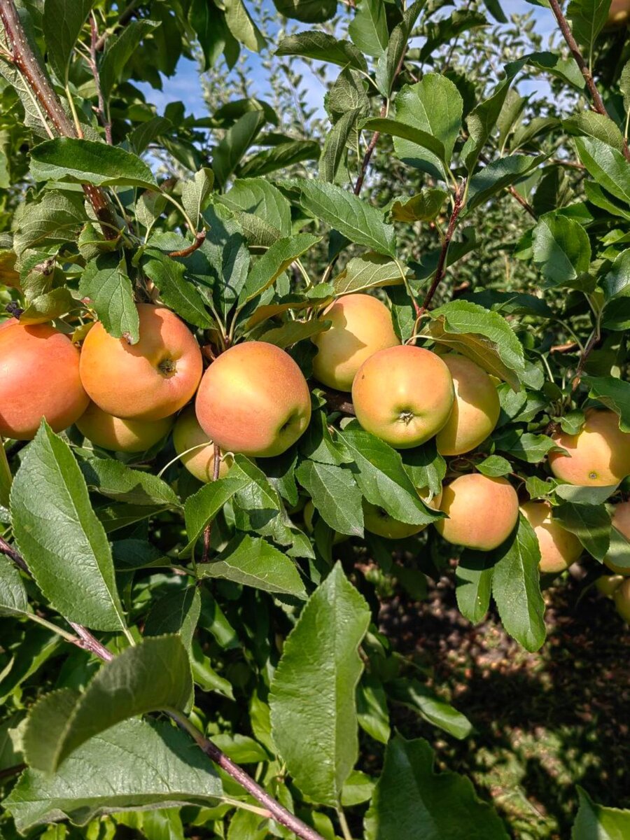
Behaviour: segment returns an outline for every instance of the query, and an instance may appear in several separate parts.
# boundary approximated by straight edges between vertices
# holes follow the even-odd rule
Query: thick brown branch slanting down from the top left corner
[[[0,0],[0,20],[3,22],[13,64],[24,77],[24,81],[28,84],[41,107],[44,108],[57,133],[61,137],[76,137],[75,124],[62,108],[59,97],[53,90],[50,80],[31,49],[14,0]],[[98,221],[101,222],[105,239],[116,239],[118,232],[115,218],[105,193],[98,186],[90,184],[83,184],[82,186]]]

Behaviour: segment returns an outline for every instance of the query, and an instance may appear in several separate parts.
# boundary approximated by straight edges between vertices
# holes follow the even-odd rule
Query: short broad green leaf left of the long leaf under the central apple
[[[333,464],[302,461],[296,478],[333,531],[363,536],[361,491],[350,470]]]

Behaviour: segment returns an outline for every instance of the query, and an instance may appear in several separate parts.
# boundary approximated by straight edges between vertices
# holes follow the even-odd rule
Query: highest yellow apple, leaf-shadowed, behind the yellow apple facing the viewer
[[[352,389],[357,370],[372,354],[400,344],[391,312],[371,295],[339,297],[323,311],[321,319],[333,323],[312,339],[318,348],[312,375],[337,391]]]

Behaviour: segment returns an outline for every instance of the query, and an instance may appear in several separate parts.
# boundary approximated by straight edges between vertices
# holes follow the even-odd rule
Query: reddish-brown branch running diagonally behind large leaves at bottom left
[[[29,571],[29,567],[24,561],[24,558],[1,537],[0,554],[6,554],[8,558],[12,559],[13,562],[19,566],[20,569],[26,572]],[[86,627],[83,627],[81,624],[76,624],[75,622],[68,623],[79,637],[72,641],[73,644],[76,644],[79,648],[89,651],[91,654],[94,654],[98,659],[102,659],[104,662],[111,662],[114,659],[112,652],[109,651],[108,648],[105,648],[102,643],[97,640],[97,638],[94,638],[92,633],[90,633]],[[241,785],[244,790],[247,790],[247,792],[254,796],[261,805],[265,806],[265,808],[270,811],[272,819],[279,822],[282,826],[289,828],[296,837],[300,838],[300,840],[323,840],[323,837],[318,834],[318,832],[313,831],[310,826],[307,826],[307,824],[302,822],[302,820],[300,820],[297,816],[291,814],[291,811],[287,811],[286,808],[281,806],[280,802],[277,802],[273,796],[268,794],[266,790],[261,788],[255,780],[245,773],[244,769],[239,767],[238,764],[234,764],[234,761],[231,759],[228,759],[228,756],[223,753],[216,744],[205,738],[202,732],[199,732],[197,727],[193,726],[187,717],[184,717],[176,711],[168,711],[167,714],[169,714],[173,720],[185,729],[186,732],[192,735],[192,738],[195,739],[198,746],[202,748],[203,752],[206,753],[215,764],[218,764],[221,769],[230,774],[234,780],[239,782],[239,785]]]

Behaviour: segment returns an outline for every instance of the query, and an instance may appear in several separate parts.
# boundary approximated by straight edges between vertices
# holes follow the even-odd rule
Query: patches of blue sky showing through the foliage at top
[[[247,5],[248,0],[245,0]],[[527,0],[503,0],[502,3],[505,12],[510,15],[512,13],[524,14],[528,12],[533,13],[536,21],[536,29],[539,34],[543,35],[545,41],[549,39],[549,35],[556,31],[556,24],[554,16],[549,8],[541,8],[540,6],[532,5]],[[307,29],[307,27],[304,27]],[[261,74],[261,81],[262,81]],[[181,100],[186,104],[186,112],[193,113],[196,117],[207,116],[207,109],[202,97],[202,87],[199,79],[199,70],[195,61],[181,59],[174,76],[171,78],[163,77],[163,89],[156,91],[150,85],[140,85],[139,87],[144,92],[148,102],[152,102],[158,109],[158,113],[163,113],[165,105],[168,102]],[[522,93],[537,93],[547,90],[546,83],[541,79],[540,82],[528,81],[523,83],[521,87]],[[320,105],[323,100],[323,88],[321,82],[313,77],[313,104]],[[264,92],[261,92],[264,95]]]

